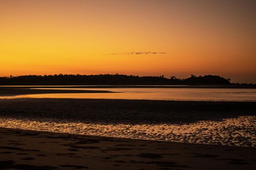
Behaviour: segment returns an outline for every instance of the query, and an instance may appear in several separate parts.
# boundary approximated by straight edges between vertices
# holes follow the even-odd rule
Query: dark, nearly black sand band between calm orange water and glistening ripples
[[[256,102],[118,99],[0,99],[0,117],[56,118],[97,123],[193,123],[255,116]]]

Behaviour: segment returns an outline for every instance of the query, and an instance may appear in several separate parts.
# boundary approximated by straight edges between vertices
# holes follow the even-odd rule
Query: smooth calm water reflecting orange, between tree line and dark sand
[[[40,88],[42,89],[42,88]],[[49,88],[47,88],[49,89]],[[20,95],[15,98],[145,99],[179,101],[256,101],[256,89],[227,88],[51,88],[109,90],[119,93]]]

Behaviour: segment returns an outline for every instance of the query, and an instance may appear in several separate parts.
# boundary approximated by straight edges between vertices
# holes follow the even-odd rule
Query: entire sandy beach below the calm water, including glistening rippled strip
[[[254,170],[255,129],[255,102],[0,99],[0,167]]]

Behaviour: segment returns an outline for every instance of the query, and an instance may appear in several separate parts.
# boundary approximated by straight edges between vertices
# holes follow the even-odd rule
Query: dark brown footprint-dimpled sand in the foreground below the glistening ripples
[[[256,148],[0,128],[0,169],[255,170]]]

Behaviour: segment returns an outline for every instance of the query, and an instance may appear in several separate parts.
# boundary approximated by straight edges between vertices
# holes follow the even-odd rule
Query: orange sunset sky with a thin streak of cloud
[[[0,0],[0,76],[256,83],[256,0]]]

